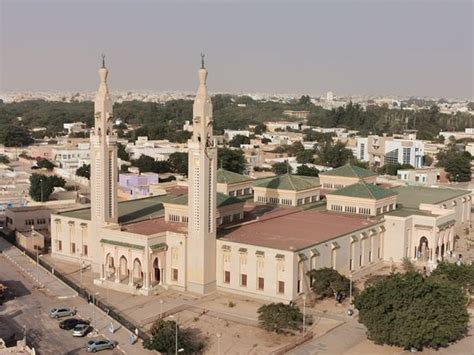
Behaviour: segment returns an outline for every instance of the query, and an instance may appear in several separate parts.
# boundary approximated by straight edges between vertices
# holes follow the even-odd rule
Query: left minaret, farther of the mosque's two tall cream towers
[[[91,132],[91,220],[96,227],[117,223],[117,137],[112,133],[109,71],[102,56],[99,90],[95,97],[95,125]]]

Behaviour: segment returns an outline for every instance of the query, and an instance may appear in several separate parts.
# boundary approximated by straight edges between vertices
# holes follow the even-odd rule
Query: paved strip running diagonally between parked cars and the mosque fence
[[[74,290],[58,280],[53,274],[41,266],[36,267],[36,263],[31,258],[24,255],[18,248],[3,238],[0,238],[0,250],[6,260],[14,264],[23,274],[29,276],[51,296],[62,300],[61,302],[66,306],[75,307],[78,315],[84,319],[90,319],[92,325],[100,334],[117,341],[122,352],[125,354],[156,354],[156,352],[143,349],[141,342],[134,345],[129,344],[130,331],[128,329],[122,327],[99,308],[78,297]],[[113,324],[115,328],[114,333],[109,331],[110,324]]]

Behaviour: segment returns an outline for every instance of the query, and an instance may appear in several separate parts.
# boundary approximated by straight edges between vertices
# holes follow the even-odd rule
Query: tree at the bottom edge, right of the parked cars
[[[194,354],[204,348],[200,341],[193,341],[186,329],[180,329],[174,320],[158,319],[151,328],[151,337],[143,342],[143,347],[162,354],[174,354],[176,349],[176,331],[178,331],[178,349],[184,354]]]

